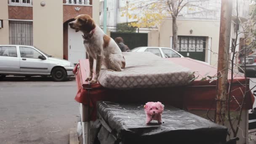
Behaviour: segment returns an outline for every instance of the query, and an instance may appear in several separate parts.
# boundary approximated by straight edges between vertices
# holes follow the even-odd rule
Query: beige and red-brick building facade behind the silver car
[[[85,58],[81,33],[68,27],[79,14],[99,24],[98,0],[1,0],[0,45],[34,45],[41,51],[77,63]]]

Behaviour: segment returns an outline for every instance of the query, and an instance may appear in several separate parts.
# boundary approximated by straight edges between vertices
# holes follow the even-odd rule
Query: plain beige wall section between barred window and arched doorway
[[[63,58],[63,1],[33,0],[34,45],[45,53]]]

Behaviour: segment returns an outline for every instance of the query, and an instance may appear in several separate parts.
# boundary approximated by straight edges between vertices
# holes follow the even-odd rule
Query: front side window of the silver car
[[[22,58],[39,59],[38,56],[42,56],[41,53],[36,51],[34,48],[19,47]]]

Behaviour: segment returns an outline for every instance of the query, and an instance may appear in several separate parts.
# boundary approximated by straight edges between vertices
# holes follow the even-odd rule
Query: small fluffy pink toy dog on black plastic
[[[157,102],[147,102],[144,105],[145,114],[147,115],[146,124],[149,124],[151,120],[157,120],[158,124],[162,124],[162,113],[164,105]]]

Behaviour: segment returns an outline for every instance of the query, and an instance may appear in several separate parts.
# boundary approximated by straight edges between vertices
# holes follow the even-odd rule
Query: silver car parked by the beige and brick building
[[[0,77],[6,75],[51,76],[55,81],[73,76],[74,64],[53,58],[28,45],[0,45]]]

